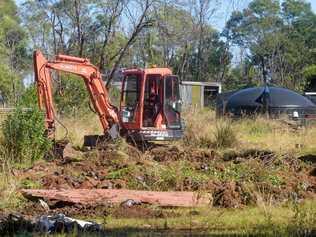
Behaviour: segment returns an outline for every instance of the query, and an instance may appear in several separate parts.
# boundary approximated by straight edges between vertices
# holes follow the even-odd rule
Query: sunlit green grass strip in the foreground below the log
[[[242,209],[173,209],[179,217],[105,219],[108,230],[169,229],[203,231],[209,234],[258,234],[291,236],[316,227],[316,200],[283,206],[245,207]],[[167,212],[168,210],[165,210]],[[101,221],[101,220],[99,220]],[[103,221],[103,220],[102,220]]]

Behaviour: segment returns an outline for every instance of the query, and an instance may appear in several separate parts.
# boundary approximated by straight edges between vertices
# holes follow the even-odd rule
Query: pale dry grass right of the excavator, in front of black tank
[[[231,127],[226,129],[227,136],[237,138],[237,142],[232,142],[230,146],[236,150],[266,149],[278,154],[316,151],[316,139],[313,139],[316,137],[316,126],[296,127],[284,120],[268,120],[263,117],[219,120],[212,110],[192,109],[184,117],[185,145],[214,146],[218,142],[219,127],[225,127],[223,124],[226,124]]]

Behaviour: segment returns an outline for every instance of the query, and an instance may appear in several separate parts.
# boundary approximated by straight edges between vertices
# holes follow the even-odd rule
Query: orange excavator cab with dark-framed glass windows
[[[168,141],[183,135],[179,79],[168,68],[123,72],[121,133],[135,141]]]

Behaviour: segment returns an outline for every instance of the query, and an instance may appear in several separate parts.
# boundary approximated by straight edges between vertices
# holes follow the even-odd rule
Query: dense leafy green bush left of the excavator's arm
[[[3,123],[3,145],[13,163],[31,164],[43,158],[51,147],[45,137],[43,114],[36,108],[17,108]]]

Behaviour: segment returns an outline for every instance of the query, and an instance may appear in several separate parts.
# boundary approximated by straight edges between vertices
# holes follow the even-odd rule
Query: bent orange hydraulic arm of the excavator
[[[117,108],[110,102],[101,73],[88,59],[57,55],[54,60],[48,61],[40,51],[35,51],[33,57],[38,103],[40,109],[45,110],[45,123],[49,137],[52,137],[55,132],[51,69],[72,73],[83,78],[104,134],[107,134],[113,125],[119,124]]]

